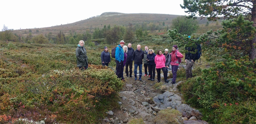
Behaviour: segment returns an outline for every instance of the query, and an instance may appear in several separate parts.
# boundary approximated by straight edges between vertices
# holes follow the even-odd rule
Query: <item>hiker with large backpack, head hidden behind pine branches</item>
[[[188,53],[185,54],[185,62],[186,62],[186,78],[191,78],[192,75],[192,66],[196,61],[198,52],[195,53],[196,48],[191,47],[185,47],[186,50],[188,50]],[[191,54],[194,53],[194,54]]]

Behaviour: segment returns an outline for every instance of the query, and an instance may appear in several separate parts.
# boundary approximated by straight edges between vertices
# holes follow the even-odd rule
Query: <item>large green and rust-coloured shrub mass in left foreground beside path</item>
[[[4,114],[46,123],[99,123],[107,110],[118,106],[116,93],[122,86],[112,69],[96,65],[1,84],[0,123],[6,123]]]

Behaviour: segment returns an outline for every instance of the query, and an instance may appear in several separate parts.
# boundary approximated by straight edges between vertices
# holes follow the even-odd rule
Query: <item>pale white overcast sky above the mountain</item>
[[[0,0],[0,29],[73,23],[103,12],[188,15],[183,0]]]

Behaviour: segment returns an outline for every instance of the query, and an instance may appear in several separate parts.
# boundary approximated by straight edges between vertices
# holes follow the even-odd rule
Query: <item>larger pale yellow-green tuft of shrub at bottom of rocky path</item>
[[[175,109],[164,109],[157,113],[155,118],[156,123],[160,124],[179,124],[176,120],[181,113]]]

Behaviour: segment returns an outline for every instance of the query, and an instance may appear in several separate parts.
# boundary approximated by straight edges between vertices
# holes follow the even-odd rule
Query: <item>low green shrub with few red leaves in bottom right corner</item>
[[[204,109],[204,120],[214,124],[255,124],[255,99],[223,103],[217,109]]]

